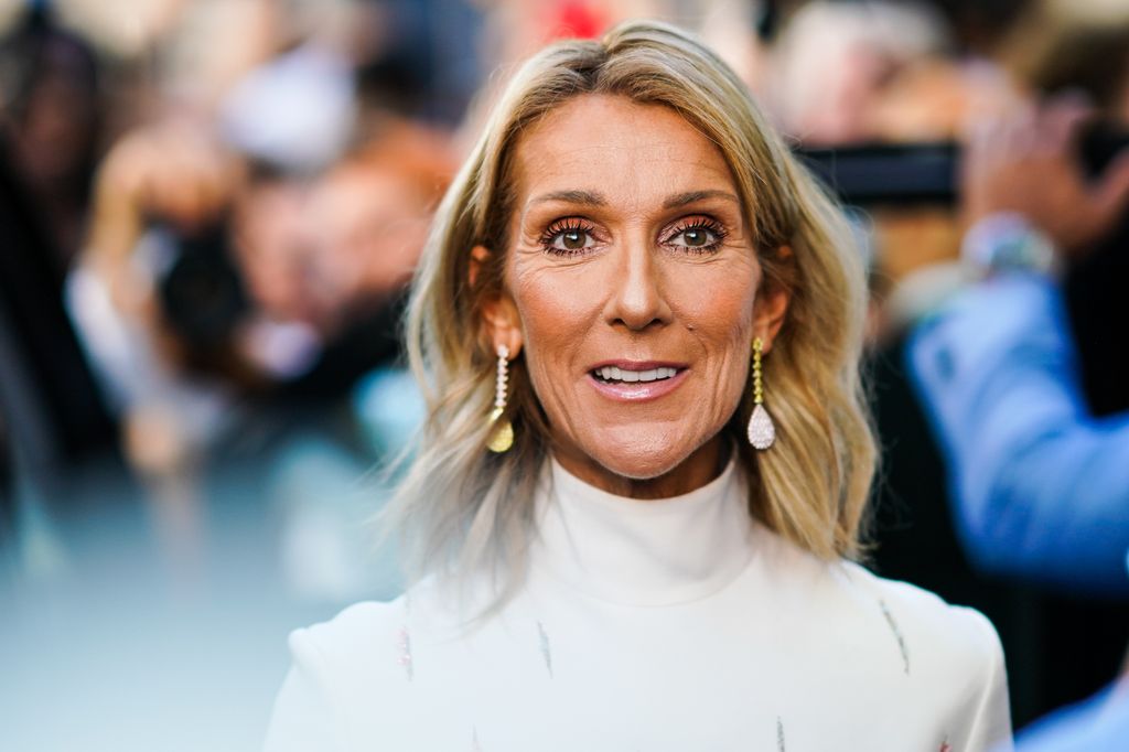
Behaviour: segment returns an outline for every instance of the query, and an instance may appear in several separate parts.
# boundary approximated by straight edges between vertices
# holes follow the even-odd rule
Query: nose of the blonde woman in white
[[[631,331],[658,326],[671,318],[664,295],[662,264],[651,244],[634,237],[616,248],[620,263],[612,279],[613,292],[607,304],[607,321]]]

